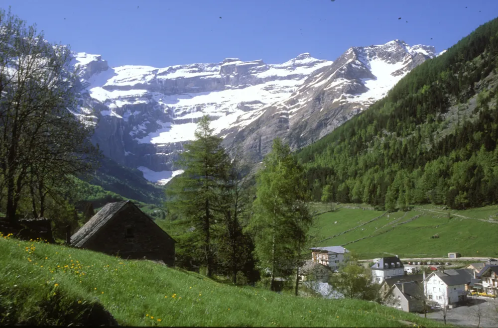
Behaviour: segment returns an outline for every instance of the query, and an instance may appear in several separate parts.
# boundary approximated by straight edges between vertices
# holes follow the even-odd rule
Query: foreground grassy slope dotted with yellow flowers
[[[0,325],[50,325],[54,316],[58,324],[77,324],[61,313],[92,304],[102,304],[125,326],[400,327],[398,320],[405,320],[442,327],[371,302],[232,287],[149,261],[0,238],[0,309],[8,313]]]

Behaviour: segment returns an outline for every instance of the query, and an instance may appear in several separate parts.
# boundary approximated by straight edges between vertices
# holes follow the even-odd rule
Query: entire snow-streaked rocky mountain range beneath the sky
[[[399,40],[350,48],[335,62],[304,53],[283,64],[227,58],[110,67],[99,55],[77,53],[82,96],[75,114],[98,120],[94,142],[106,156],[166,183],[179,173],[172,161],[204,114],[227,147],[242,143],[259,161],[275,136],[293,148],[311,143],[434,56],[434,47]]]

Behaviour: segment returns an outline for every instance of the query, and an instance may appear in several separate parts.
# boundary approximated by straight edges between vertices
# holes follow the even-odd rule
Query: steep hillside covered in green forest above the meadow
[[[497,203],[497,58],[494,19],[299,151],[315,200],[386,210]]]

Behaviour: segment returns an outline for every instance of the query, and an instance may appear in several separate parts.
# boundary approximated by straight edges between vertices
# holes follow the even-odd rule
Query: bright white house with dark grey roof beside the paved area
[[[467,301],[467,290],[473,278],[472,269],[435,271],[424,280],[424,292],[429,301],[442,307],[462,304]]]

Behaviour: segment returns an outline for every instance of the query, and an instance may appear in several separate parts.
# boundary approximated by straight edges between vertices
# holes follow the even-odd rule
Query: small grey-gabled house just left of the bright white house
[[[385,305],[404,312],[422,312],[424,299],[424,287],[421,282],[401,282],[392,286]]]

